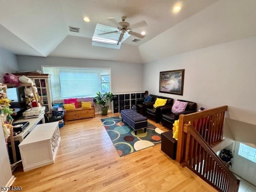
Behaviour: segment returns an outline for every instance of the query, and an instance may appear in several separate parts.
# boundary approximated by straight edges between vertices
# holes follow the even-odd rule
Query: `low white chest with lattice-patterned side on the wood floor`
[[[23,170],[54,163],[59,144],[59,122],[37,125],[19,144]]]

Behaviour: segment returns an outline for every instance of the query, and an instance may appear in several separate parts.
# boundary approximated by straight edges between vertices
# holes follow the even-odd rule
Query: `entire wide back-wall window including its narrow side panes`
[[[43,72],[51,74],[53,100],[110,92],[110,69],[43,67]]]

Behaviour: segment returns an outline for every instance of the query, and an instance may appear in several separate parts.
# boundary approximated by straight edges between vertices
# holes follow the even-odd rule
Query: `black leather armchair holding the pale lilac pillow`
[[[186,106],[185,111],[174,114],[172,113],[172,107],[161,108],[162,116],[161,116],[160,122],[169,128],[173,127],[174,121],[179,119],[180,114],[186,115],[186,114],[194,113],[197,111],[197,104],[195,102],[185,101],[180,99],[178,99],[178,101],[188,102],[188,105]]]

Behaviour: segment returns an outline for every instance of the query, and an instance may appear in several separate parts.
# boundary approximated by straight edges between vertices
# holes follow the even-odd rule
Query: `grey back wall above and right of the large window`
[[[113,93],[142,91],[143,64],[62,57],[17,56],[20,70],[41,70],[42,65],[111,68]]]

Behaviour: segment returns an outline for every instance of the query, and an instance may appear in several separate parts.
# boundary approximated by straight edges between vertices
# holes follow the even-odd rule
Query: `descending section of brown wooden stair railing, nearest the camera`
[[[182,164],[221,192],[238,192],[240,179],[216,155],[194,126],[185,124],[185,160]]]

